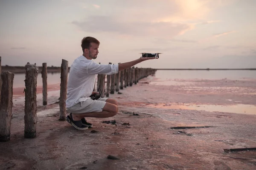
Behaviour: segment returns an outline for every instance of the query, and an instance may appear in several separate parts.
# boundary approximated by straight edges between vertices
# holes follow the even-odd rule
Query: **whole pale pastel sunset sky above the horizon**
[[[2,65],[69,66],[83,37],[95,62],[163,53],[143,68],[256,68],[256,0],[0,0]]]

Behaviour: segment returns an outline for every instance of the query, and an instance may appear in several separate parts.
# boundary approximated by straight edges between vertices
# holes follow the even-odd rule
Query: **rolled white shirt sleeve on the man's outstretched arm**
[[[118,64],[98,64],[96,62],[91,62],[87,67],[87,73],[88,74],[116,74],[118,73]]]

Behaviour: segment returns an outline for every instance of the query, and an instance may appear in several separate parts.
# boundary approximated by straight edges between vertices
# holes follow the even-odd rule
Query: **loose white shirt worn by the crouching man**
[[[116,74],[118,64],[101,65],[84,56],[76,58],[70,67],[67,81],[66,108],[90,99],[93,93],[96,74]]]

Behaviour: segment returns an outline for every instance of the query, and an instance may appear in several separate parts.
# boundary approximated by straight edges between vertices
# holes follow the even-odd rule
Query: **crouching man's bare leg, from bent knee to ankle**
[[[90,112],[90,113],[81,113],[81,114],[72,113],[73,120],[79,121],[84,117],[106,118],[106,117],[115,116],[118,113],[117,102],[113,99],[111,100],[107,99],[107,100],[106,100],[106,105],[102,109],[102,112]],[[116,105],[111,102],[115,103]]]

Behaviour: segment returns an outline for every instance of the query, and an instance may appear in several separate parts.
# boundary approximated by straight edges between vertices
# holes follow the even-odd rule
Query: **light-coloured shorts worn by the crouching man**
[[[76,105],[67,108],[67,112],[70,113],[90,113],[90,112],[102,112],[108,98],[99,98],[97,100],[87,99],[77,103]]]

